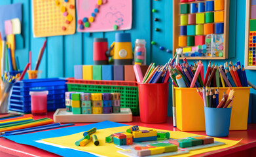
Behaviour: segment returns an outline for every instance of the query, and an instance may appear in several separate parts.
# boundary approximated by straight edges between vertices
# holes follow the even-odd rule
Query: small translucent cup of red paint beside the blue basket
[[[46,114],[47,113],[47,95],[48,91],[29,92],[31,96],[31,113]]]

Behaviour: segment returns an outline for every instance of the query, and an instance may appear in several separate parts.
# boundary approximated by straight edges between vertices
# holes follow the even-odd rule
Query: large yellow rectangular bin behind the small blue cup
[[[247,130],[250,88],[232,87],[235,96],[232,102],[230,130]],[[228,89],[219,88],[219,101]],[[181,131],[205,131],[204,102],[196,92],[196,88],[174,87],[174,90],[177,128]]]

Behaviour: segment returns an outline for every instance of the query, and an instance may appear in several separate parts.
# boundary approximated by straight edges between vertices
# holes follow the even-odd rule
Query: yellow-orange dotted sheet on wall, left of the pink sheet
[[[34,37],[75,33],[75,0],[33,0],[32,3]]]

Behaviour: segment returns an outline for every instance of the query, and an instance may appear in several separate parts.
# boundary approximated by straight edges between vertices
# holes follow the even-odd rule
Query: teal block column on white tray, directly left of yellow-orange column
[[[92,113],[90,97],[91,97],[90,93],[80,94],[82,114],[91,114]]]

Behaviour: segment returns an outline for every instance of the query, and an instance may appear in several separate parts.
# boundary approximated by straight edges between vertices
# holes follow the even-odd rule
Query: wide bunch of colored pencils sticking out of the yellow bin
[[[181,65],[170,63],[168,66],[170,77],[175,86],[181,88],[193,87],[244,87],[248,86],[246,71],[244,65],[237,61],[235,65],[225,63],[225,65],[208,64],[206,75],[204,77],[204,65],[202,61],[194,62],[194,65],[189,65],[186,58]],[[181,77],[179,77],[181,75]],[[179,79],[177,79],[179,78]]]

